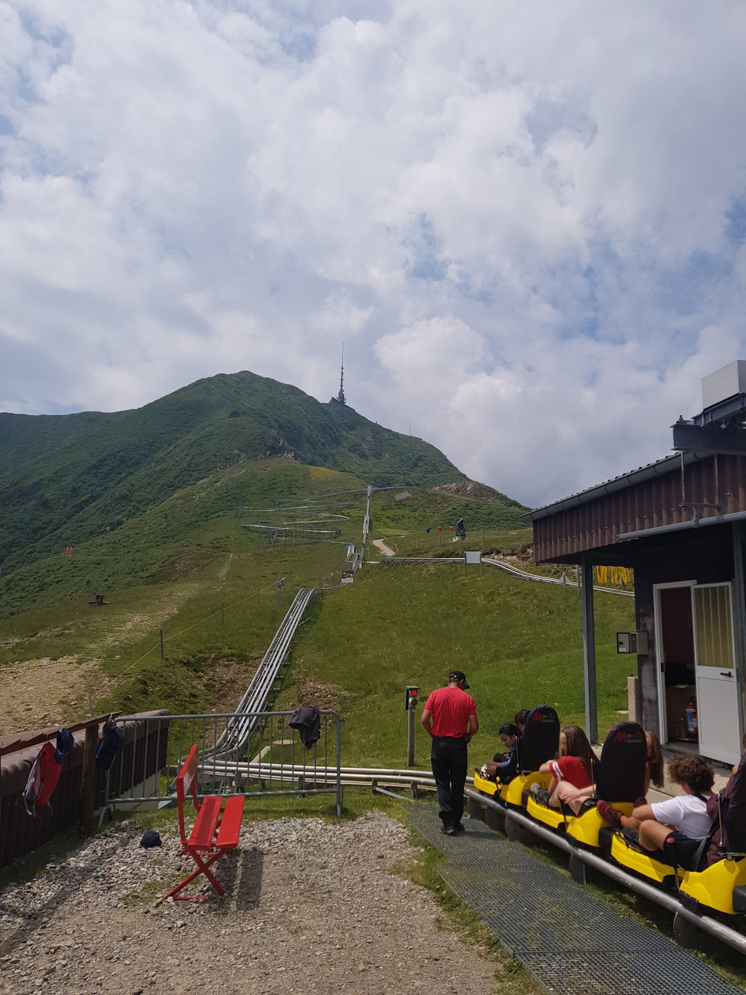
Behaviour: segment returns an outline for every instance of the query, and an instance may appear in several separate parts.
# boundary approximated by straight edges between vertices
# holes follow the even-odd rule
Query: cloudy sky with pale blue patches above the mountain
[[[746,358],[741,0],[0,0],[0,410],[250,369],[530,505]]]

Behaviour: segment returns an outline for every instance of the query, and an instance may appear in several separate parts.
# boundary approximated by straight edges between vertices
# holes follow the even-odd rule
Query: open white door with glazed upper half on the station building
[[[730,584],[692,588],[699,750],[723,763],[741,759],[738,677]]]

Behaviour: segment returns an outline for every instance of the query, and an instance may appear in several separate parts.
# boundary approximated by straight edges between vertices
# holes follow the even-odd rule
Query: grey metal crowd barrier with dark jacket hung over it
[[[142,745],[132,752],[131,769],[125,771],[131,787],[116,791],[112,779],[105,804],[172,804],[176,775],[196,743],[200,752],[200,797],[333,794],[337,815],[341,815],[342,721],[336,711],[322,709],[319,738],[305,749],[298,731],[289,726],[291,714],[244,711],[139,719],[145,723]],[[161,764],[157,771],[148,773],[152,771],[153,757],[162,758]]]

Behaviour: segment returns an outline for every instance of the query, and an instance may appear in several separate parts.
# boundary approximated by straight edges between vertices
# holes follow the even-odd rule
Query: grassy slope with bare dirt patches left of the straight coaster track
[[[302,585],[337,583],[344,547],[263,548],[263,536],[243,529],[226,507],[267,505],[278,497],[322,495],[356,484],[346,475],[286,459],[246,461],[183,489],[115,532],[78,544],[72,559],[57,555],[14,571],[5,578],[6,599],[14,599],[16,607],[0,622],[0,667],[71,656],[79,663],[96,661],[87,691],[97,707],[234,707],[290,597]],[[420,500],[445,521],[478,505],[452,494],[413,489],[412,495],[399,502],[390,492],[375,495],[374,516],[388,515],[397,528],[411,528],[419,523]],[[363,495],[352,495],[347,506],[333,510],[349,515],[340,522],[340,539],[359,541]],[[485,505],[484,514],[493,513],[494,506]],[[278,576],[288,580],[280,609],[274,597]],[[263,589],[259,605],[258,588]],[[110,602],[100,610],[88,604],[96,591]],[[202,623],[220,611],[221,602],[224,623],[219,616]],[[161,664],[157,653],[140,660],[156,646],[161,627],[166,662]],[[231,670],[233,679],[226,674]],[[61,690],[60,699],[65,697]],[[85,697],[71,707],[60,714],[82,713]],[[50,721],[56,718],[52,713]],[[30,710],[25,725],[33,724]]]

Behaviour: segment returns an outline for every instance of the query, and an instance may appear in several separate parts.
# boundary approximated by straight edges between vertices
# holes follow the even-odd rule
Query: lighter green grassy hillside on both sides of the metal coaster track
[[[295,591],[339,582],[344,545],[264,547],[262,534],[242,528],[226,505],[271,506],[275,497],[320,495],[356,483],[284,460],[231,468],[148,512],[139,531],[125,524],[90,548],[77,547],[72,561],[58,558],[42,604],[0,622],[0,674],[9,692],[0,705],[0,729],[78,717],[87,710],[87,695],[96,710],[231,710]],[[465,545],[451,541],[448,526],[465,517],[466,548],[525,558],[530,530],[490,529],[493,504],[442,492],[411,494],[400,501],[392,492],[374,494],[372,537],[385,536],[403,555],[462,554]],[[473,510],[480,504],[481,519]],[[340,540],[359,540],[363,511],[362,495],[349,496]],[[124,554],[139,558],[149,583],[133,582],[137,571],[126,573]],[[378,558],[372,546],[369,558]],[[100,587],[97,581],[90,586],[94,570]],[[115,583],[117,570],[131,586]],[[277,607],[279,577],[287,583]],[[101,589],[110,603],[92,608],[88,600]],[[354,585],[323,595],[314,607],[279,703],[315,695],[338,705],[346,720],[346,761],[400,765],[404,686],[418,684],[427,694],[459,667],[479,707],[482,728],[472,752],[480,759],[498,747],[497,728],[518,707],[546,701],[563,720],[582,722],[580,613],[573,588],[515,580],[493,568],[470,568],[466,577],[455,564],[371,564]],[[597,596],[602,728],[626,707],[630,661],[617,656],[614,633],[629,629],[632,616],[632,599]],[[425,761],[424,731],[418,736]]]

